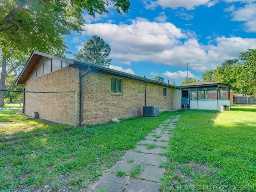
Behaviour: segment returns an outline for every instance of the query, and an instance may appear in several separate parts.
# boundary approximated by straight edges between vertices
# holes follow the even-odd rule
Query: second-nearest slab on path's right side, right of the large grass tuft
[[[159,178],[164,177],[165,168],[159,168],[158,166],[141,164],[142,171],[138,175],[138,178],[159,182]],[[137,191],[136,191],[137,192]]]

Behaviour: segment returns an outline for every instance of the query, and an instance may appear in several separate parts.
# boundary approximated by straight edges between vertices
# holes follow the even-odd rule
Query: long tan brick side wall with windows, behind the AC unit
[[[84,71],[81,71],[82,73]],[[111,118],[129,118],[143,115],[145,83],[122,79],[122,94],[111,94],[111,77],[90,72],[84,76],[84,123],[98,124]],[[119,78],[119,77],[116,77]],[[160,110],[172,109],[172,89],[147,84],[147,105],[159,105]]]

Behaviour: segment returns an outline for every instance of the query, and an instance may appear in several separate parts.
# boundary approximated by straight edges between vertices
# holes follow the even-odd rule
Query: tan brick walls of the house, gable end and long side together
[[[80,124],[79,73],[76,68],[63,68],[57,72],[26,81],[26,91],[55,92],[78,91],[77,123]],[[84,123],[100,124],[111,118],[129,118],[143,115],[145,83],[122,79],[122,94],[111,94],[110,75],[90,72],[84,76]],[[147,84],[146,105],[159,105],[160,111],[170,110],[172,88],[163,96],[163,86]],[[26,93],[25,114],[58,123],[74,125],[74,93]]]

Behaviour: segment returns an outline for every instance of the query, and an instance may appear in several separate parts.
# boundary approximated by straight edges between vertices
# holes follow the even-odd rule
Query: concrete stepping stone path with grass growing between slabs
[[[108,170],[90,191],[159,192],[158,183],[165,172],[159,164],[168,160],[164,154],[168,151],[169,138],[180,116],[177,112],[164,120],[145,140],[138,142],[135,149],[126,152],[122,160]],[[138,165],[142,168],[140,173],[137,178],[131,178],[131,171]],[[116,176],[118,171],[125,172],[126,176]]]

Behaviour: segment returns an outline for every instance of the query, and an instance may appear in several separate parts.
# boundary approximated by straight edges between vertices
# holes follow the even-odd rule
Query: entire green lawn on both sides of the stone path
[[[86,190],[174,113],[182,116],[161,165],[162,192],[256,191],[255,106],[163,112],[90,129],[24,120],[18,111],[0,110],[0,191]]]

